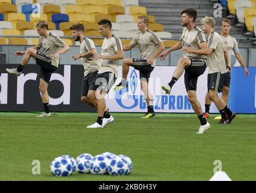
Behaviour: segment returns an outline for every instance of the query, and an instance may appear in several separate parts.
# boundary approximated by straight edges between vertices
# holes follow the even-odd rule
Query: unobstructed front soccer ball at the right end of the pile
[[[129,166],[124,156],[116,156],[110,162],[107,168],[108,174],[113,176],[123,176],[128,174]]]

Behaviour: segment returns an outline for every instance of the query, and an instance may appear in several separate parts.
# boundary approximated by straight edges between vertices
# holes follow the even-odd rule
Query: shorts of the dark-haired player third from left
[[[93,90],[102,90],[103,92],[108,93],[115,81],[116,77],[113,72],[97,74]]]

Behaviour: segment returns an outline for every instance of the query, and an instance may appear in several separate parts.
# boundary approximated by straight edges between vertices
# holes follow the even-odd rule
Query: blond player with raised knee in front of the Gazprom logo
[[[152,96],[148,87],[148,81],[151,72],[154,70],[156,58],[163,52],[165,46],[156,33],[148,29],[149,19],[146,16],[139,16],[138,28],[140,33],[133,38],[129,45],[124,45],[123,50],[129,51],[138,45],[140,59],[123,59],[122,81],[114,87],[114,90],[120,90],[126,85],[126,78],[129,72],[129,66],[140,72],[140,87],[145,95],[148,112],[143,118],[151,118],[156,113],[153,109]]]

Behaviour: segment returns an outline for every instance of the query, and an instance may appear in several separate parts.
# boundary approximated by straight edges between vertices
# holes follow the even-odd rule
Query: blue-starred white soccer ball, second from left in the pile
[[[93,156],[91,154],[88,153],[84,153],[84,154],[80,154],[80,156],[78,156],[76,158],[76,162],[77,162],[77,171],[80,174],[88,174],[90,173],[89,167],[90,167],[90,162],[93,159]]]

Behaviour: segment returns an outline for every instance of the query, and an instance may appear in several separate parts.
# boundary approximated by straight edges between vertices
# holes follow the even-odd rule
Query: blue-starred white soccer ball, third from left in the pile
[[[102,155],[94,156],[90,163],[91,174],[107,174],[108,158]]]

